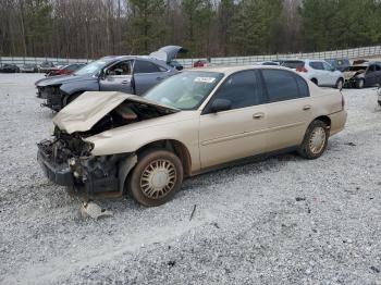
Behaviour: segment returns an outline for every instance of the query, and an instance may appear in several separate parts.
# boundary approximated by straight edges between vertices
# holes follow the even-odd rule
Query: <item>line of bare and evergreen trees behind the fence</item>
[[[180,45],[186,57],[381,42],[380,0],[0,0],[0,55],[96,59]]]

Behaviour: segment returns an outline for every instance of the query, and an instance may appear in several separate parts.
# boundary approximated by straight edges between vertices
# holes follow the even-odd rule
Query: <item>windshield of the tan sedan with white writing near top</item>
[[[194,110],[201,104],[223,77],[217,72],[183,72],[150,89],[145,98],[181,110]]]

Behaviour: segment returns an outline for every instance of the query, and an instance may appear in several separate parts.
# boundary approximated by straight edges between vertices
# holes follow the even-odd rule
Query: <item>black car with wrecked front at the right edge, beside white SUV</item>
[[[344,71],[346,87],[371,87],[381,84],[381,62],[364,62]]]

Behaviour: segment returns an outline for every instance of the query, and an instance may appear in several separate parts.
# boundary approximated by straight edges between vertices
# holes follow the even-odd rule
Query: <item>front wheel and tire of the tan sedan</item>
[[[148,150],[127,178],[127,191],[143,206],[160,206],[173,198],[183,182],[183,165],[173,152]],[[156,185],[155,185],[156,184]]]

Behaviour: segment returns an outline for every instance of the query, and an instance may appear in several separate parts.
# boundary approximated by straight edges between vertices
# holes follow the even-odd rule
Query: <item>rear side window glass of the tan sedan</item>
[[[309,96],[307,83],[298,75],[280,70],[262,70],[269,102]]]

